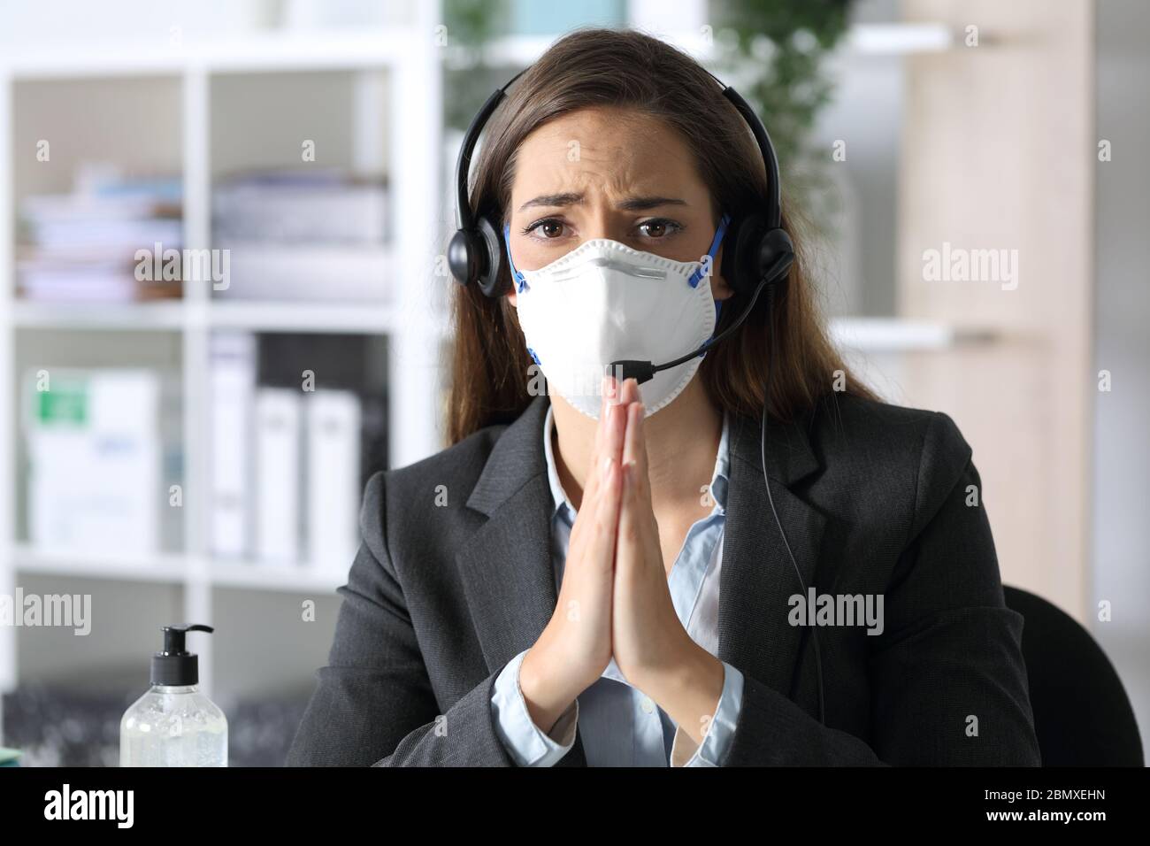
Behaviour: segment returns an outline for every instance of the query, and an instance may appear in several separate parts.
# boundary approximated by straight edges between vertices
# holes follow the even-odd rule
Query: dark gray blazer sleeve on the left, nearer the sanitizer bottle
[[[499,668],[439,711],[388,552],[384,474],[368,481],[362,542],[328,665],[288,754],[289,767],[512,767],[491,717]]]

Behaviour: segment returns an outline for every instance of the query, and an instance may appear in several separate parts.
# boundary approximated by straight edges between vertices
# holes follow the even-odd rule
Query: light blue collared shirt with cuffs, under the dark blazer
[[[718,588],[722,565],[729,478],[728,418],[715,456],[710,494],[711,513],[696,520],[687,533],[667,579],[675,612],[691,638],[712,655],[718,650]],[[547,481],[554,512],[551,519],[551,552],[555,585],[562,582],[567,544],[575,523],[575,508],[562,489],[551,448],[552,410],[543,424]],[[702,495],[702,491],[700,491]],[[575,744],[576,725],[590,767],[719,767],[730,748],[743,702],[743,674],[723,662],[722,695],[702,744],[690,736],[647,695],[631,686],[615,660],[578,695],[550,734],[531,721],[522,691],[519,668],[521,651],[496,678],[491,696],[496,731],[508,754],[520,767],[551,767]]]

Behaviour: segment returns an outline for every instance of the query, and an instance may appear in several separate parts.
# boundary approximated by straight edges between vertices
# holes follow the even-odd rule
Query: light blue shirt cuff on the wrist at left
[[[523,691],[519,686],[519,668],[528,650],[524,649],[496,677],[491,694],[491,716],[496,733],[507,753],[520,767],[552,767],[575,745],[578,724],[578,699],[545,733],[531,719]]]

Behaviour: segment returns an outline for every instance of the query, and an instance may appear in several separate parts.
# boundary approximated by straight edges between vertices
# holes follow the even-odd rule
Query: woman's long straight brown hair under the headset
[[[762,157],[751,130],[721,96],[719,83],[691,56],[643,32],[576,30],[552,45],[507,94],[488,124],[470,195],[471,208],[497,222],[500,230],[522,140],[553,117],[595,106],[634,108],[677,130],[695,154],[716,209],[737,216],[762,208],[768,196]],[[706,131],[698,131],[700,127]],[[769,331],[777,333],[779,361],[768,411],[788,420],[812,410],[830,391],[834,372],[848,368],[827,338],[806,280],[808,258],[799,237],[799,215],[785,199],[783,209],[782,226],[795,244],[795,264],[769,315]],[[509,287],[506,262],[501,275]],[[511,422],[532,399],[528,392],[532,361],[515,307],[506,297],[486,297],[474,284],[454,288],[451,443],[484,426]],[[715,331],[741,311],[723,308]],[[761,412],[770,349],[767,311],[766,297],[760,295],[743,325],[699,366],[699,378],[720,409],[756,417]],[[851,374],[846,373],[845,381],[848,392],[876,398]]]

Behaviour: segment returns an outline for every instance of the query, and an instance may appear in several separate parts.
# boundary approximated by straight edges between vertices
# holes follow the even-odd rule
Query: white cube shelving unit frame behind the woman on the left
[[[346,580],[325,570],[217,561],[209,552],[207,495],[209,444],[208,341],[216,329],[285,333],[350,333],[385,336],[389,360],[389,457],[392,466],[417,460],[440,448],[436,366],[442,322],[431,275],[440,236],[442,73],[434,43],[438,2],[420,2],[409,25],[388,31],[307,33],[268,32],[243,39],[183,45],[125,44],[79,49],[37,51],[0,56],[0,594],[14,595],[25,574],[80,577],[169,585],[182,588],[186,622],[213,623],[213,590],[235,588],[269,594],[330,595]],[[181,116],[184,246],[210,247],[214,86],[236,75],[325,74],[353,79],[352,128],[355,163],[382,165],[389,177],[390,254],[394,295],[386,304],[253,302],[214,298],[208,283],[185,282],[182,300],[108,305],[23,302],[14,295],[17,201],[15,102],[20,85],[70,85],[89,81],[174,79]],[[384,87],[385,86],[385,87]],[[376,104],[386,102],[388,114]],[[385,121],[385,122],[381,122]],[[369,148],[386,128],[388,159]],[[147,131],[125,125],[125,137]],[[78,140],[83,144],[83,139]],[[22,165],[26,167],[26,165]],[[442,247],[439,247],[442,250]],[[183,549],[146,558],[114,552],[60,554],[20,540],[16,503],[21,373],[17,335],[40,331],[171,333],[179,338],[183,390],[184,504]],[[107,613],[107,609],[103,609]],[[0,693],[17,683],[17,637],[0,626]],[[156,633],[159,638],[159,633]],[[145,648],[150,645],[145,643]],[[222,648],[222,647],[217,647]],[[201,685],[213,687],[213,638],[197,643]],[[145,656],[146,657],[146,656]],[[259,660],[259,656],[253,656]]]

